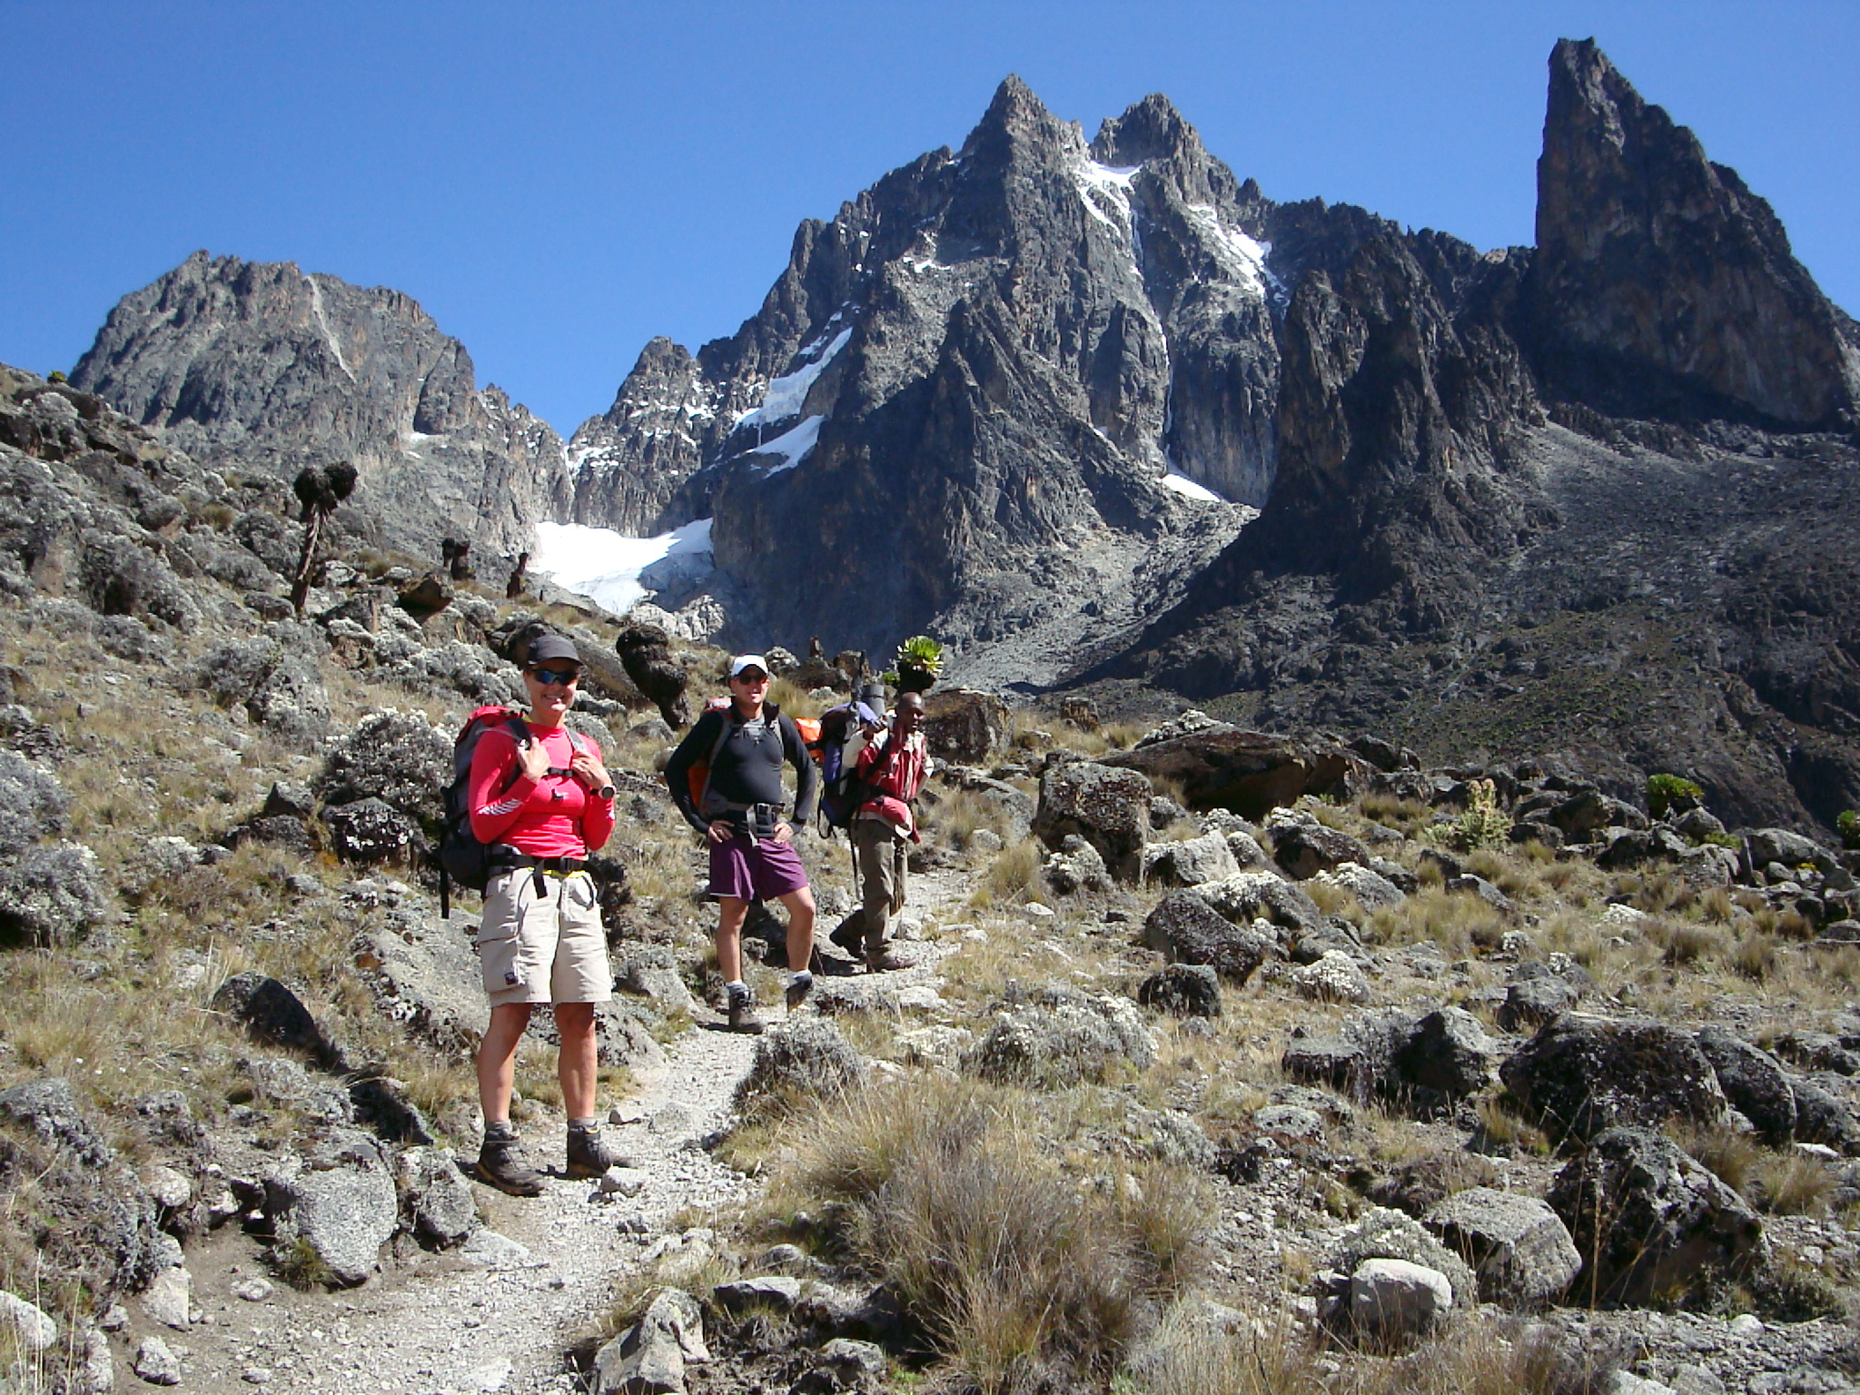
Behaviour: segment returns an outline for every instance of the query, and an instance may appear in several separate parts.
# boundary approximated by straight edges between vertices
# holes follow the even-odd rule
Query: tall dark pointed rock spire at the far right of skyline
[[[1555,385],[1639,415],[1851,420],[1854,326],[1771,206],[1594,39],[1549,56],[1534,311]]]

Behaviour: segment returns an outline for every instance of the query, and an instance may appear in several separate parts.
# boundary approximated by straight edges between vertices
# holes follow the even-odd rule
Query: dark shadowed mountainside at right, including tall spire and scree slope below
[[[1542,246],[1315,227],[1265,512],[1092,677],[1681,770],[1750,820],[1860,804],[1853,324],[1769,206],[1564,41]]]

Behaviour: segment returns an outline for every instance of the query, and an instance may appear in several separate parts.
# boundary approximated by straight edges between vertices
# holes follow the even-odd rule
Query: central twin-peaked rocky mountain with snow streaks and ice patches
[[[575,437],[577,519],[712,513],[746,638],[936,627],[1051,679],[1272,489],[1272,212],[1164,99],[1088,145],[1010,78],[960,153],[804,223],[733,339],[647,348]]]

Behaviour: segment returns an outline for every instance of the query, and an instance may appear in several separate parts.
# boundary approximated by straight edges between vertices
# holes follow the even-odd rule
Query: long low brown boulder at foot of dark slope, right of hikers
[[[1296,804],[1306,794],[1350,796],[1367,763],[1334,742],[1304,742],[1220,724],[1202,731],[1144,738],[1105,764],[1142,770],[1181,787],[1190,809],[1233,809],[1246,818]]]

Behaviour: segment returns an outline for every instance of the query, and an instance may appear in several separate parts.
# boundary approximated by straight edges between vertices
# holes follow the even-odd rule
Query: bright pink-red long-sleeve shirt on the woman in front
[[[528,725],[528,724],[526,724]],[[575,746],[562,727],[528,725],[543,742],[552,770],[567,770]],[[601,746],[582,737],[601,759]],[[575,776],[517,776],[517,740],[512,729],[491,727],[471,757],[471,831],[480,843],[506,843],[530,857],[586,857],[606,844],[614,831],[614,802],[597,800]]]

